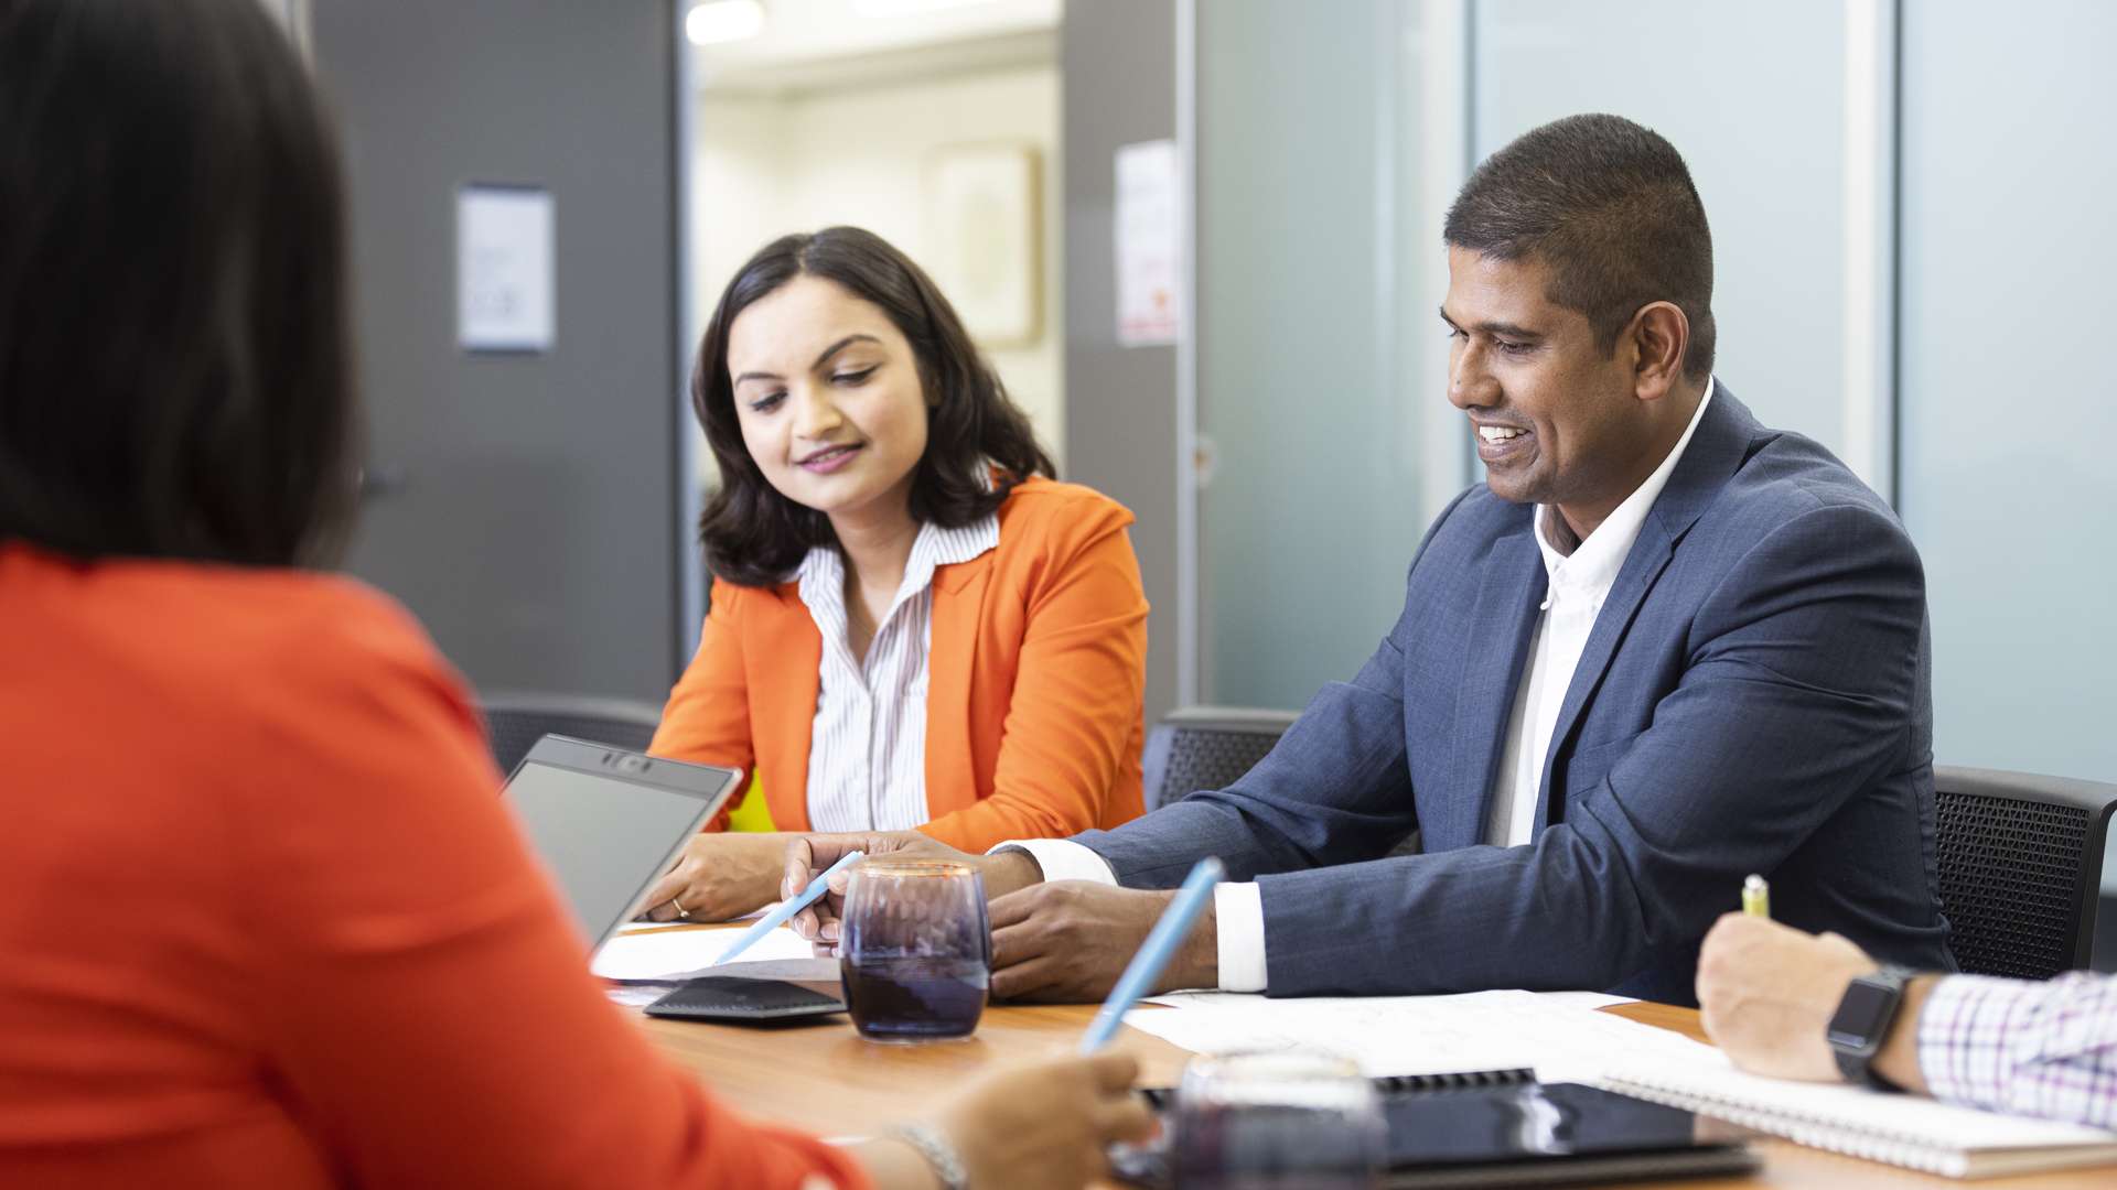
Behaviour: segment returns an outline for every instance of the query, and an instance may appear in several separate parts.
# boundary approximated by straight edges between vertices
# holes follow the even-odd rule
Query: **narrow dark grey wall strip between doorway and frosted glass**
[[[1147,722],[1177,695],[1177,354],[1120,347],[1111,199],[1116,150],[1177,131],[1175,0],[1071,0],[1058,42],[1065,138],[1065,457],[1139,517]]]

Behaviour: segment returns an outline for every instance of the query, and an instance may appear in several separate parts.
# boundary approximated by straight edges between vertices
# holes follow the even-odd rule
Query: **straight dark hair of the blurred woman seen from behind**
[[[0,0],[0,540],[328,561],[345,301],[337,140],[256,0]]]

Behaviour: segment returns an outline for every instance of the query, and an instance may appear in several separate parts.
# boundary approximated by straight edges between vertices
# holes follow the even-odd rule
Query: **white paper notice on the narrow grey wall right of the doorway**
[[[1177,142],[1118,148],[1118,345],[1175,343],[1183,332],[1183,195]]]

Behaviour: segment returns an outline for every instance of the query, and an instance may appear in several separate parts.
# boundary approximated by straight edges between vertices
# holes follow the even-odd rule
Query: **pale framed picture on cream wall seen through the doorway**
[[[925,267],[980,347],[1044,332],[1044,220],[1037,150],[963,144],[925,172]]]

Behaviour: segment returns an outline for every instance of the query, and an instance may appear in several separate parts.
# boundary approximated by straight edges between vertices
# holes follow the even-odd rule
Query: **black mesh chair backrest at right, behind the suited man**
[[[1935,767],[1933,790],[1956,963],[2015,978],[2085,968],[2117,786]]]

